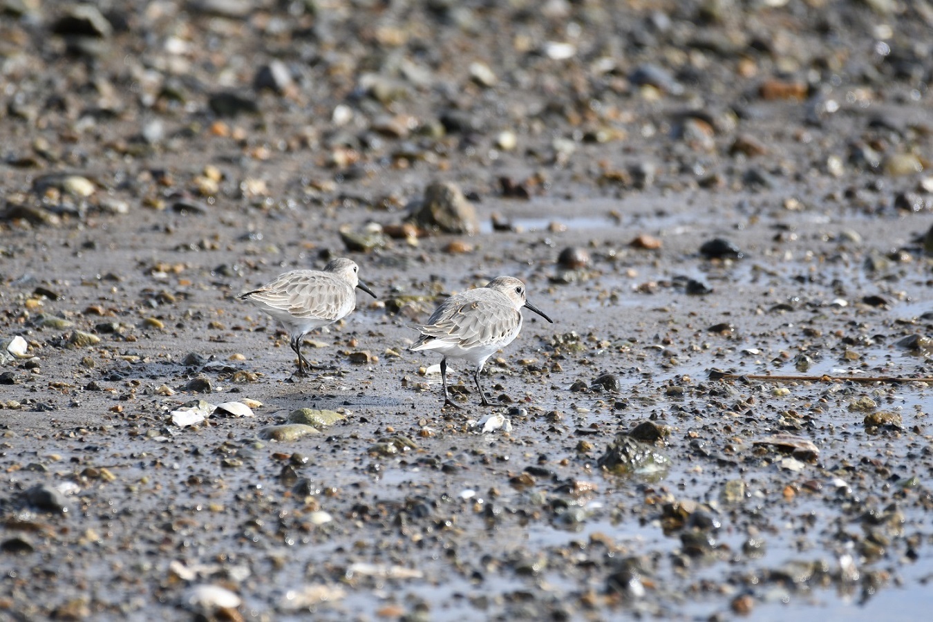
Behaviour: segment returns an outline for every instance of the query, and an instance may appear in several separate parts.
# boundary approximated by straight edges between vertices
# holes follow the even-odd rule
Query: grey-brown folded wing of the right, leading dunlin
[[[518,325],[519,311],[508,304],[488,299],[453,301],[448,298],[434,311],[422,335],[443,339],[469,348],[480,343],[505,339]],[[424,337],[421,339],[424,342]]]

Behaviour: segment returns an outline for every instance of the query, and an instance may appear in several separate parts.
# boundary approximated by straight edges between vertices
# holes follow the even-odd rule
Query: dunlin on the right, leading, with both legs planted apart
[[[553,324],[550,317],[525,299],[524,283],[510,276],[500,276],[485,287],[455,294],[431,314],[411,351],[436,350],[443,354],[440,380],[444,406],[458,408],[447,394],[448,358],[462,358],[476,367],[473,380],[482,405],[489,406],[480,386],[480,372],[486,359],[518,337],[522,330],[522,307]]]

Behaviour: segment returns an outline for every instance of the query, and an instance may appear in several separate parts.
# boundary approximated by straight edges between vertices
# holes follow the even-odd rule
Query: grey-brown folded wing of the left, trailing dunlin
[[[247,296],[295,317],[336,320],[353,291],[348,283],[327,273],[285,272]]]

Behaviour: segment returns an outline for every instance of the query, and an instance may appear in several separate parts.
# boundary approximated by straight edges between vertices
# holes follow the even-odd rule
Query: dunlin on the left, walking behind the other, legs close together
[[[298,354],[298,374],[312,365],[301,353],[304,336],[315,328],[345,318],[356,307],[354,289],[358,287],[376,297],[356,273],[359,267],[344,257],[331,259],[324,270],[292,270],[270,283],[240,295],[285,326],[291,348]]]

